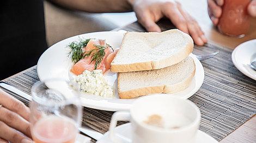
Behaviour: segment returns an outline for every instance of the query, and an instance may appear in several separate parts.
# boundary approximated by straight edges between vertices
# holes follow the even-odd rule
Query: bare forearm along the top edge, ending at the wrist
[[[128,12],[132,10],[127,0],[50,0],[69,9],[86,12]]]

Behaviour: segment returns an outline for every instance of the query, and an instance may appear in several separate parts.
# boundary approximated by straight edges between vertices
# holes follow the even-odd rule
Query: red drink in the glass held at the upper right
[[[251,0],[224,0],[218,29],[226,35],[243,37],[250,27],[247,6]]]

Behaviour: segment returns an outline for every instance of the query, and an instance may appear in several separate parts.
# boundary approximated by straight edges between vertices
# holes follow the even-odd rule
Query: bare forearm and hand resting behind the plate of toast
[[[160,32],[156,24],[167,17],[178,29],[190,34],[194,43],[207,42],[197,21],[186,12],[176,0],[51,0],[66,8],[86,12],[127,12],[135,11],[138,22],[148,31]]]

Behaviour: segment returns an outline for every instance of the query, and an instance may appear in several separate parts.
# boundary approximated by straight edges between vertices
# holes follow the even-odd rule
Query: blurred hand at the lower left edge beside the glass
[[[0,89],[0,142],[32,142],[30,110],[22,102]]]

